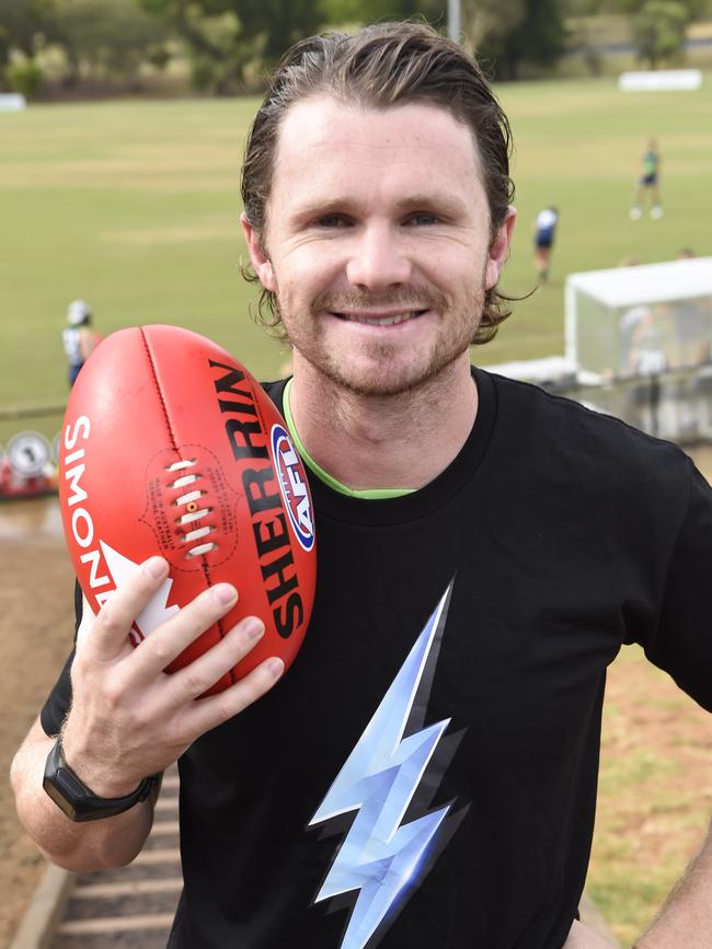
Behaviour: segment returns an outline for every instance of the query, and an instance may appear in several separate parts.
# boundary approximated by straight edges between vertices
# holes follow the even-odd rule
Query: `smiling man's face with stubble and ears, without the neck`
[[[491,244],[472,136],[446,109],[320,96],[283,120],[266,234],[244,224],[295,364],[388,395],[468,362],[514,211]]]

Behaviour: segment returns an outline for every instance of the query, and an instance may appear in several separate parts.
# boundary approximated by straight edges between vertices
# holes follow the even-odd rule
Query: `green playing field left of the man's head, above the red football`
[[[60,331],[76,297],[90,301],[102,333],[191,326],[260,375],[276,372],[284,356],[249,319],[253,291],[239,275],[239,166],[254,105],[0,115],[0,406],[65,397]]]

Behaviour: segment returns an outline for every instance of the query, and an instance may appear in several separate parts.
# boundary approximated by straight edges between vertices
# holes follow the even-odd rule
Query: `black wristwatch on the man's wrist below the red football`
[[[123,798],[96,797],[65,761],[61,736],[59,736],[47,755],[42,786],[70,821],[99,821],[102,818],[113,818],[124,813],[139,801],[145,801],[159,778],[158,774],[145,777],[135,791]]]

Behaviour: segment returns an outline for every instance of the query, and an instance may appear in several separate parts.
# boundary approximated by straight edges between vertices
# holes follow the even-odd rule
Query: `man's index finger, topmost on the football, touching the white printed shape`
[[[102,660],[116,659],[126,650],[126,637],[138,614],[148,605],[168,577],[163,557],[149,557],[106,600],[99,611],[87,649]]]

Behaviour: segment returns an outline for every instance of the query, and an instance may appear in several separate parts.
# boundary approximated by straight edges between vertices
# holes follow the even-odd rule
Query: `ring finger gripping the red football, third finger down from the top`
[[[188,666],[174,672],[166,683],[172,705],[204,695],[211,685],[233,669],[256,646],[264,635],[264,623],[256,616],[245,616],[227,635]]]

